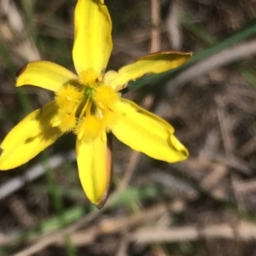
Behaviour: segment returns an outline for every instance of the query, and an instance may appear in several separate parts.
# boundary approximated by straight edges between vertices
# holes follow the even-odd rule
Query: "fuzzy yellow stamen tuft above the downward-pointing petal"
[[[99,136],[102,130],[102,119],[90,115],[79,120],[75,133],[77,134],[79,140],[88,140]]]

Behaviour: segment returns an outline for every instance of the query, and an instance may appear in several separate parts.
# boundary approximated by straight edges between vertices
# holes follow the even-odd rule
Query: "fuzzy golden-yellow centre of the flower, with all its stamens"
[[[82,82],[69,81],[55,93],[58,113],[51,125],[62,132],[73,131],[79,140],[104,138],[103,133],[111,131],[118,118],[115,105],[119,95],[110,86],[102,84],[102,79],[93,80],[90,74],[86,83],[86,78],[88,73],[85,72]]]

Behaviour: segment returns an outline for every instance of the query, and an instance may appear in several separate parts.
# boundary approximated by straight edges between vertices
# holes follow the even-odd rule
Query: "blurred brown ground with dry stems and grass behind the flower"
[[[101,211],[79,183],[73,134],[0,172],[0,255],[256,255],[256,2],[106,0],[118,69],[150,52],[194,52],[188,65],[124,96],[176,129],[190,152],[152,160],[113,137]],[[0,1],[0,141],[54,95],[15,73],[29,61],[73,70],[75,0]],[[132,85],[132,84],[131,84]]]

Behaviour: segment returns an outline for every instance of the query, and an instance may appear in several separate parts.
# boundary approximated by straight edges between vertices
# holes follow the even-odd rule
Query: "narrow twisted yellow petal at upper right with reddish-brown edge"
[[[108,71],[104,76],[104,84],[113,90],[122,90],[131,80],[136,80],[148,73],[163,73],[179,67],[189,61],[191,53],[166,51],[145,55],[137,61],[121,67],[118,72]]]

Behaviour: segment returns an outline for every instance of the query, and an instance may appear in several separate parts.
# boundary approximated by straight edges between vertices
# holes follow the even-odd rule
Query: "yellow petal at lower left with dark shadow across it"
[[[0,170],[9,170],[25,164],[61,136],[49,120],[55,116],[55,102],[49,102],[16,125],[0,145]]]

